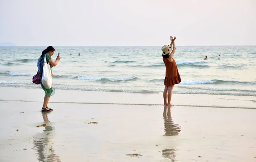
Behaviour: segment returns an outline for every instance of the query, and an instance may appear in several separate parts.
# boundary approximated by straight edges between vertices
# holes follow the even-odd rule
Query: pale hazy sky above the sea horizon
[[[17,46],[256,45],[256,0],[0,0]]]

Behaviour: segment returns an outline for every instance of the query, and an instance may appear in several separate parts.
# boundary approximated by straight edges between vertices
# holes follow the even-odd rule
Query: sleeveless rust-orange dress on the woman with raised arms
[[[164,78],[165,86],[171,86],[174,84],[179,84],[181,82],[177,64],[173,58],[172,60],[173,61],[170,62],[168,59],[163,58],[163,62],[166,66],[166,77]]]

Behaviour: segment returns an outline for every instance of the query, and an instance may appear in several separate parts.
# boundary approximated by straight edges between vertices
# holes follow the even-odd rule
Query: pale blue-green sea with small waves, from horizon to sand
[[[0,86],[32,84],[46,47],[0,47]],[[52,87],[66,90],[162,93],[161,47],[55,47]],[[72,55],[70,55],[70,53]],[[80,53],[80,56],[79,56]],[[204,60],[207,56],[208,60]],[[177,46],[181,77],[173,93],[256,96],[256,46]]]

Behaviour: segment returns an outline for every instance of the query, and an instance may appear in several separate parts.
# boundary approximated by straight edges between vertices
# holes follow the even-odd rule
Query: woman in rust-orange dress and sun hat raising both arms
[[[175,45],[175,37],[170,36],[171,44],[170,45],[164,45],[162,47],[162,56],[163,56],[163,62],[166,66],[166,77],[164,78],[164,91],[163,91],[163,101],[165,106],[174,106],[171,103],[172,99],[172,89],[175,84],[179,84],[181,82],[180,74],[177,68],[177,64],[175,62],[175,59],[173,59],[176,45]],[[172,47],[173,46],[173,47]],[[168,101],[167,101],[168,98]]]

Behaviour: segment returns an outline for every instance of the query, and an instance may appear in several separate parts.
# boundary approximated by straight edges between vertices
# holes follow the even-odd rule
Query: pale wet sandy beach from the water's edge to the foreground
[[[1,162],[256,161],[250,96],[58,90],[42,113],[41,89],[0,90]]]

